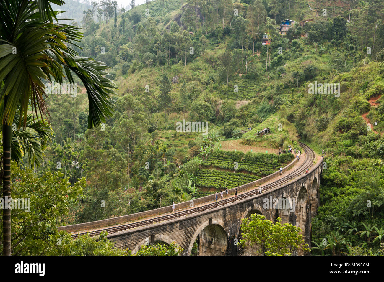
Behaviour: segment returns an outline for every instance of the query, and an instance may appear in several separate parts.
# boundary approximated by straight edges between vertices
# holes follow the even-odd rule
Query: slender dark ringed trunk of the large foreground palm
[[[4,108],[7,105],[8,96],[4,99]],[[11,197],[11,139],[12,127],[3,122],[3,199],[8,207],[8,199]],[[5,200],[7,197],[7,201]],[[3,208],[3,255],[11,255],[11,210]]]

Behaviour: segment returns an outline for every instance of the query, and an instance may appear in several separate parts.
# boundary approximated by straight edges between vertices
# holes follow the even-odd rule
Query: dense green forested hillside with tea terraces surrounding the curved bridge
[[[116,92],[113,110],[92,128],[89,88],[75,77],[76,95],[45,86],[45,138],[23,128],[18,109],[13,139],[30,143],[12,157],[12,195],[36,200],[32,213],[12,210],[13,254],[81,254],[91,238],[72,242],[56,226],[189,201],[293,159],[223,148],[241,139],[326,151],[312,255],[383,255],[384,3],[337,2],[132,0],[125,10],[111,0],[67,0],[61,10],[73,13],[62,17],[83,38],[66,45],[110,67],[103,75]],[[282,35],[287,19],[294,22]],[[340,95],[310,93],[315,82],[339,84]],[[208,122],[207,134],[178,132],[183,120]],[[255,137],[262,128],[268,138]],[[90,254],[122,254],[108,248]]]

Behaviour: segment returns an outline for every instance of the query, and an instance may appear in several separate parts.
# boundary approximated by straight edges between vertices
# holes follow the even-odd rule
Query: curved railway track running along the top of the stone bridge
[[[260,186],[262,193],[268,192],[269,190],[271,190],[273,188],[279,187],[281,185],[284,185],[284,184],[290,182],[291,180],[295,179],[296,177],[304,174],[305,170],[307,168],[310,168],[313,165],[313,160],[315,157],[314,151],[310,147],[308,147],[307,145],[305,145],[301,142],[300,142],[300,146],[307,151],[307,156],[306,156],[305,162],[303,162],[303,164],[301,164],[301,166],[297,167],[295,170],[285,172],[286,175],[284,177],[282,177],[281,179],[278,179],[278,180],[271,182],[269,184]],[[72,238],[76,239],[79,235],[86,234],[86,233],[88,233],[90,236],[98,235],[102,231],[106,231],[106,232],[108,232],[108,234],[119,233],[121,231],[132,230],[135,228],[148,226],[148,225],[151,225],[154,223],[169,221],[169,220],[172,220],[175,218],[181,218],[181,217],[185,217],[188,215],[194,215],[194,214],[202,212],[202,211],[212,210],[214,208],[225,206],[225,205],[228,205],[228,204],[233,203],[233,202],[237,202],[237,201],[240,201],[240,200],[243,200],[246,198],[254,197],[255,195],[258,195],[258,194],[259,194],[259,189],[257,188],[257,189],[253,189],[251,191],[242,193],[241,195],[238,195],[237,197],[227,198],[225,200],[214,202],[214,203],[209,203],[209,204],[203,205],[201,207],[196,207],[196,208],[192,208],[189,210],[179,211],[179,212],[172,213],[169,215],[158,216],[156,218],[142,220],[142,221],[138,221],[138,222],[134,222],[134,223],[126,223],[126,224],[122,224],[119,226],[106,227],[106,228],[95,230],[95,231],[80,231],[77,233],[72,233],[71,236],[72,236]]]

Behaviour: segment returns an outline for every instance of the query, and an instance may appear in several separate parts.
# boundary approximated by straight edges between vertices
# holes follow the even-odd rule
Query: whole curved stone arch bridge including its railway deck
[[[239,192],[247,191],[237,197],[215,202],[215,195],[209,195],[177,204],[176,213],[170,213],[172,207],[169,206],[58,229],[71,232],[74,238],[83,233],[94,236],[107,231],[108,239],[116,242],[116,247],[132,252],[137,252],[144,244],[175,242],[184,249],[184,255],[190,255],[196,242],[199,255],[238,255],[235,243],[240,236],[241,219],[259,213],[273,222],[280,217],[282,224],[289,222],[300,227],[300,234],[311,246],[311,218],[319,206],[323,158],[317,158],[305,144],[300,145],[307,151],[306,156],[302,155],[304,162],[296,158],[284,167],[283,176],[275,172],[237,187]],[[306,174],[307,168],[310,171]],[[262,193],[259,193],[259,185]],[[233,195],[234,190],[230,189],[229,193]]]

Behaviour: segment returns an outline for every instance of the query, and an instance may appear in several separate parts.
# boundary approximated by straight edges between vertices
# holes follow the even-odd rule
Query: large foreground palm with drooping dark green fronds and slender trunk
[[[18,126],[26,128],[28,110],[44,122],[49,116],[43,80],[74,85],[75,74],[88,93],[88,128],[105,122],[113,113],[111,80],[103,62],[86,57],[69,46],[78,46],[81,28],[58,23],[51,3],[63,0],[0,0],[0,112],[3,126],[3,197],[11,196],[10,161],[12,122],[20,110]],[[54,22],[56,20],[56,22]],[[40,117],[39,117],[40,116]],[[3,210],[3,254],[11,255],[11,214]]]

